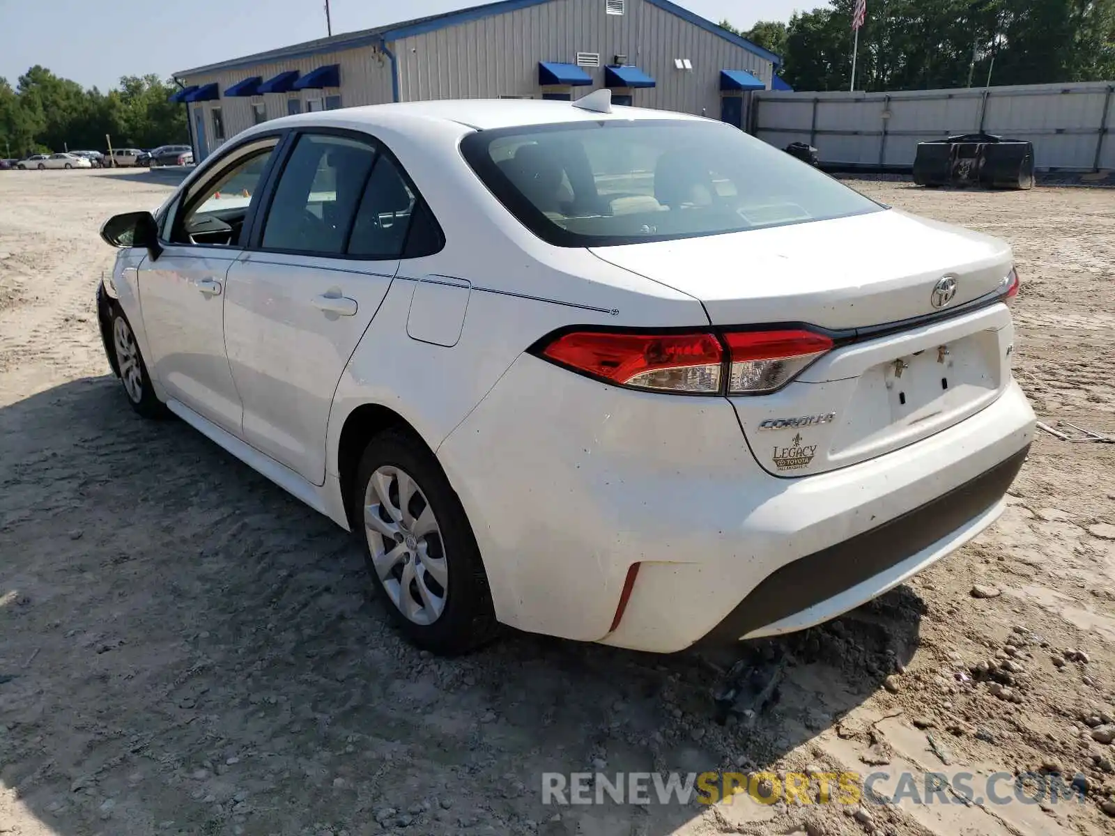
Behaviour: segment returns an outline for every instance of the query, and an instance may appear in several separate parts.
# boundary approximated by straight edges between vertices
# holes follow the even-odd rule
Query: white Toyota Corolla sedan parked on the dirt
[[[275,119],[101,235],[132,406],[358,532],[437,652],[817,624],[990,525],[1034,434],[1007,244],[605,91]]]

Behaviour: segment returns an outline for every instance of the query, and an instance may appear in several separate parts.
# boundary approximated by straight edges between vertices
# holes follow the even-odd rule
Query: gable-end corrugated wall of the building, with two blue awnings
[[[769,86],[772,65],[643,0],[627,0],[624,13],[605,14],[604,0],[554,0],[516,11],[404,38],[395,43],[399,98],[535,96],[539,61],[574,64],[578,52],[600,55],[600,68],[584,68],[592,87],[603,87],[603,65],[617,55],[652,76],[657,87],[634,90],[634,104],[720,115],[721,69],[744,69]],[[675,59],[688,58],[692,70]]]

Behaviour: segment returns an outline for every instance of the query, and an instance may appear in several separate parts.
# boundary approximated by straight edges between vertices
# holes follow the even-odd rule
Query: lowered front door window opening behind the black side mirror
[[[252,200],[277,145],[278,139],[271,138],[243,152],[235,152],[235,163],[192,189],[186,196],[185,212],[172,210],[169,213],[174,215],[169,225],[171,242],[217,246],[239,244]]]

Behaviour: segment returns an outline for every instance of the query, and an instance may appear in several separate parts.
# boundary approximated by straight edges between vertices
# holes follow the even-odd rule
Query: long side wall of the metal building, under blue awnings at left
[[[341,74],[340,89],[328,88],[324,90],[298,90],[295,93],[274,93],[265,96],[254,97],[225,97],[224,90],[242,79],[252,76],[261,76],[264,80],[285,70],[298,70],[309,72],[318,67],[339,64]],[[324,96],[341,97],[343,107],[356,105],[378,105],[391,100],[391,66],[387,58],[372,47],[361,47],[359,49],[348,49],[340,52],[329,52],[309,58],[292,58],[274,64],[261,64],[255,67],[244,69],[221,70],[219,72],[191,76],[182,79],[186,85],[206,85],[216,81],[221,88],[221,99],[217,101],[198,101],[190,106],[191,125],[195,126],[194,114],[198,110],[204,113],[205,143],[212,154],[219,143],[213,135],[212,110],[221,108],[224,119],[225,142],[245,128],[250,128],[252,120],[252,105],[263,103],[266,108],[269,119],[277,119],[287,116],[288,99],[299,99],[301,109],[308,109],[310,99],[323,98]],[[193,129],[193,128],[192,128]]]

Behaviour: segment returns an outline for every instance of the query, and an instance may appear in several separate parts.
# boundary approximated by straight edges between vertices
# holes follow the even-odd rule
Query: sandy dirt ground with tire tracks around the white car
[[[856,185],[1008,239],[1019,380],[1046,421],[1115,434],[1115,191]],[[0,174],[0,834],[1115,830],[1115,446],[1039,434],[975,544],[838,622],[741,647],[787,665],[750,730],[711,699],[731,658],[517,634],[428,658],[369,602],[343,532],[184,424],[137,418],[109,376],[97,229],[168,189]],[[806,767],[1035,770],[1085,795],[542,803],[545,771],[780,786]]]

